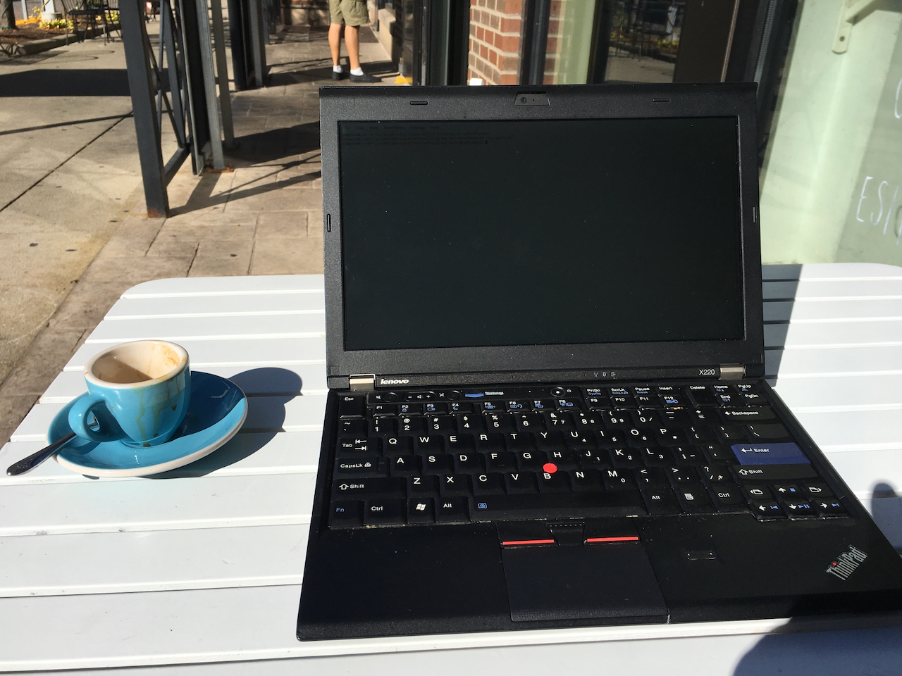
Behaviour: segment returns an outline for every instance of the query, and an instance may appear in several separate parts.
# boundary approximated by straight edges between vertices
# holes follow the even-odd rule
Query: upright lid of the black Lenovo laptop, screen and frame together
[[[329,387],[763,374],[753,84],[324,87],[320,124]]]

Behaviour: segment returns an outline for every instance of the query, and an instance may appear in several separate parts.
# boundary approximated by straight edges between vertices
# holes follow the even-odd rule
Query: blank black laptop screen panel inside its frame
[[[743,338],[733,117],[339,123],[345,350]]]

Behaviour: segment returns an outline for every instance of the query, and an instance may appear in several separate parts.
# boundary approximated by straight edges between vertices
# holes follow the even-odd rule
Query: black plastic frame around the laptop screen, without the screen
[[[548,105],[515,105],[518,94]],[[530,99],[533,100],[533,99]],[[763,374],[764,333],[758,223],[755,86],[629,85],[548,87],[323,87],[320,90],[327,376],[347,387],[354,374],[415,384],[496,377],[547,381],[592,370],[746,366]],[[739,195],[744,337],[738,340],[567,343],[483,347],[345,350],[339,123],[352,121],[618,119],[732,116],[739,136]],[[419,378],[418,378],[419,377]],[[379,385],[377,379],[376,385]]]

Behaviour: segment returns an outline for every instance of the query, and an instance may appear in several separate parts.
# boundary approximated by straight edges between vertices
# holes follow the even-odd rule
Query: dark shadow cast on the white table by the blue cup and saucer
[[[292,370],[267,367],[245,370],[230,378],[247,394],[247,419],[238,434],[222,448],[197,462],[177,470],[154,474],[148,479],[182,479],[202,477],[221,470],[262,449],[272,438],[283,432],[285,405],[300,396],[303,385],[300,376]]]

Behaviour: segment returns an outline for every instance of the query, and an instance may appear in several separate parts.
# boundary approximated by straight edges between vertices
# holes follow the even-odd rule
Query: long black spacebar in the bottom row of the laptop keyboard
[[[638,491],[606,493],[528,493],[486,495],[473,500],[474,521],[562,518],[566,516],[642,516],[648,514]]]

